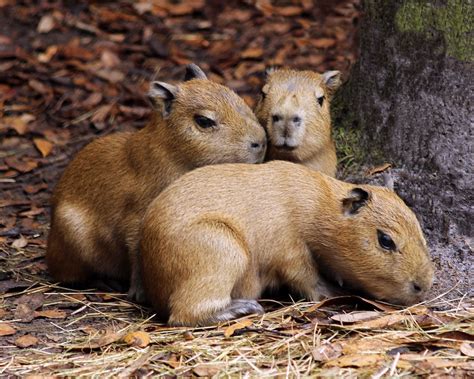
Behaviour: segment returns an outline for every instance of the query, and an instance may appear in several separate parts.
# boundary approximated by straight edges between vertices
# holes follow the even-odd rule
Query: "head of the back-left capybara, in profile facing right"
[[[189,166],[263,160],[265,130],[252,110],[195,64],[182,83],[152,82],[149,97],[172,136],[173,153]]]

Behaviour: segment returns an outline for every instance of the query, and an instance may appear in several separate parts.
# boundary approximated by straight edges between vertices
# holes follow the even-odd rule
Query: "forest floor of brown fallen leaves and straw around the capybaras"
[[[474,308],[462,293],[406,309],[355,296],[264,300],[263,316],[189,329],[48,275],[55,183],[92,139],[144,126],[158,67],[180,80],[198,63],[250,105],[268,66],[347,78],[358,1],[318,4],[0,0],[1,376],[472,375]]]

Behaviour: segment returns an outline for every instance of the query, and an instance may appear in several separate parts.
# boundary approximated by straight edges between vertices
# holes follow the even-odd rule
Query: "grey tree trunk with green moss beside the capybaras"
[[[461,279],[472,295],[472,1],[365,0],[363,10],[349,83],[361,146],[368,162],[399,167],[395,188],[429,237],[439,289]]]

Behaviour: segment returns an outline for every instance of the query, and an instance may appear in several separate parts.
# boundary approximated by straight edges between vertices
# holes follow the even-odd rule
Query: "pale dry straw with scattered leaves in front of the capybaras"
[[[358,297],[268,300],[263,316],[170,328],[123,294],[74,291],[31,274],[44,266],[39,249],[3,249],[0,259],[12,274],[1,282],[2,377],[464,377],[474,370],[474,305],[466,296],[405,309]]]

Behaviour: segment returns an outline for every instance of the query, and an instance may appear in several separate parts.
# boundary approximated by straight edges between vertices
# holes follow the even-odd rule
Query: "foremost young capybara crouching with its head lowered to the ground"
[[[381,247],[378,230],[395,251]],[[148,208],[140,249],[148,299],[171,324],[262,312],[255,299],[283,284],[310,300],[342,283],[411,304],[433,280],[419,223],[393,191],[284,161],[178,179]]]

